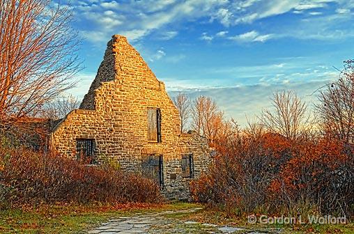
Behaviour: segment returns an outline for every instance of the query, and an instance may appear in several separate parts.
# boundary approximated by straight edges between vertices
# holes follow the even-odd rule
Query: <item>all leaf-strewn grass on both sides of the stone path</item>
[[[166,210],[190,210],[202,208],[194,203],[169,203],[153,205],[144,203],[131,204],[56,204],[39,205],[36,208],[22,207],[8,210],[0,210],[0,233],[84,233],[98,226],[102,222],[113,217],[132,216]],[[204,233],[215,228],[201,226],[200,224],[186,225],[184,221],[198,221],[199,223],[217,224],[219,226],[237,226],[249,231],[276,233],[282,229],[282,233],[354,233],[353,224],[319,225],[319,224],[249,224],[247,217],[240,217],[222,210],[204,209],[192,213],[176,212],[164,214],[168,219],[175,219],[171,228],[190,233]],[[158,227],[155,227],[158,228]],[[167,228],[167,227],[164,227]]]

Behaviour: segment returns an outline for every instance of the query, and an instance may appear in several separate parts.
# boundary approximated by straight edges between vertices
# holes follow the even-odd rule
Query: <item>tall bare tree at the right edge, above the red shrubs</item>
[[[318,95],[316,117],[323,132],[345,143],[354,142],[354,61],[344,62],[339,79]]]

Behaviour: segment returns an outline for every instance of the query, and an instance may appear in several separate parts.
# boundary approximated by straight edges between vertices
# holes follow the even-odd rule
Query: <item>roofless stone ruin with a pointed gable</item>
[[[164,83],[118,35],[107,43],[79,109],[52,130],[51,145],[91,164],[118,160],[121,169],[155,180],[167,198],[188,198],[188,182],[210,162],[206,139],[180,133],[178,110]]]

